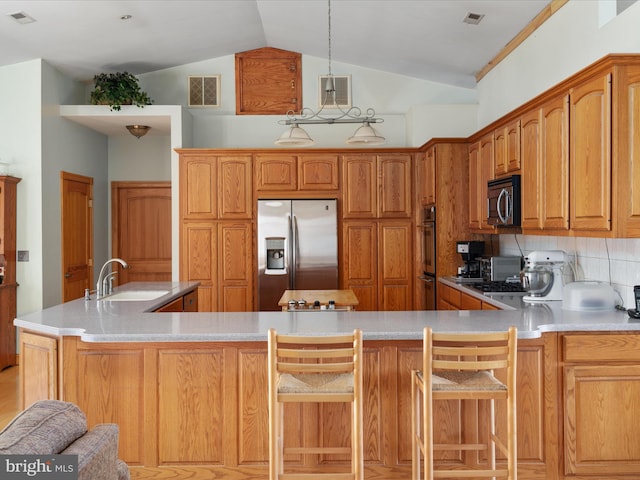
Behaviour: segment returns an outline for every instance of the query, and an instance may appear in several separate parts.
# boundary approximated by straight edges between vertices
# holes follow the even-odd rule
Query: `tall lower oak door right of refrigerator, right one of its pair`
[[[380,222],[378,226],[379,310],[411,310],[411,222]]]

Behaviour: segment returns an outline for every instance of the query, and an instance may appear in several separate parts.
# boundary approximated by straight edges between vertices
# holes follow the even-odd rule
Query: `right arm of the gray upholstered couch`
[[[96,425],[78,438],[63,455],[78,455],[78,480],[128,480],[129,468],[118,465],[118,426]],[[118,466],[119,468],[114,468]]]

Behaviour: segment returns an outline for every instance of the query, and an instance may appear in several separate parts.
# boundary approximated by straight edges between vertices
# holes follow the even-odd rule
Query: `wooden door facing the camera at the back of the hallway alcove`
[[[117,283],[171,281],[171,182],[113,182],[111,199]]]

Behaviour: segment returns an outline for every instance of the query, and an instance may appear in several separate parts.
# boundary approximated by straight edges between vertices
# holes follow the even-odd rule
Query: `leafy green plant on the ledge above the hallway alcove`
[[[101,73],[93,77],[91,92],[93,105],[109,105],[111,110],[120,110],[122,105],[144,107],[153,101],[140,90],[138,79],[128,72]]]

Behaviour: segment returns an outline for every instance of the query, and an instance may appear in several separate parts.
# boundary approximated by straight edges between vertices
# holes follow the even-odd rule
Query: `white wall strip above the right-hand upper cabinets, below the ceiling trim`
[[[479,128],[608,53],[640,52],[640,2],[599,27],[602,1],[570,0],[478,83]]]

